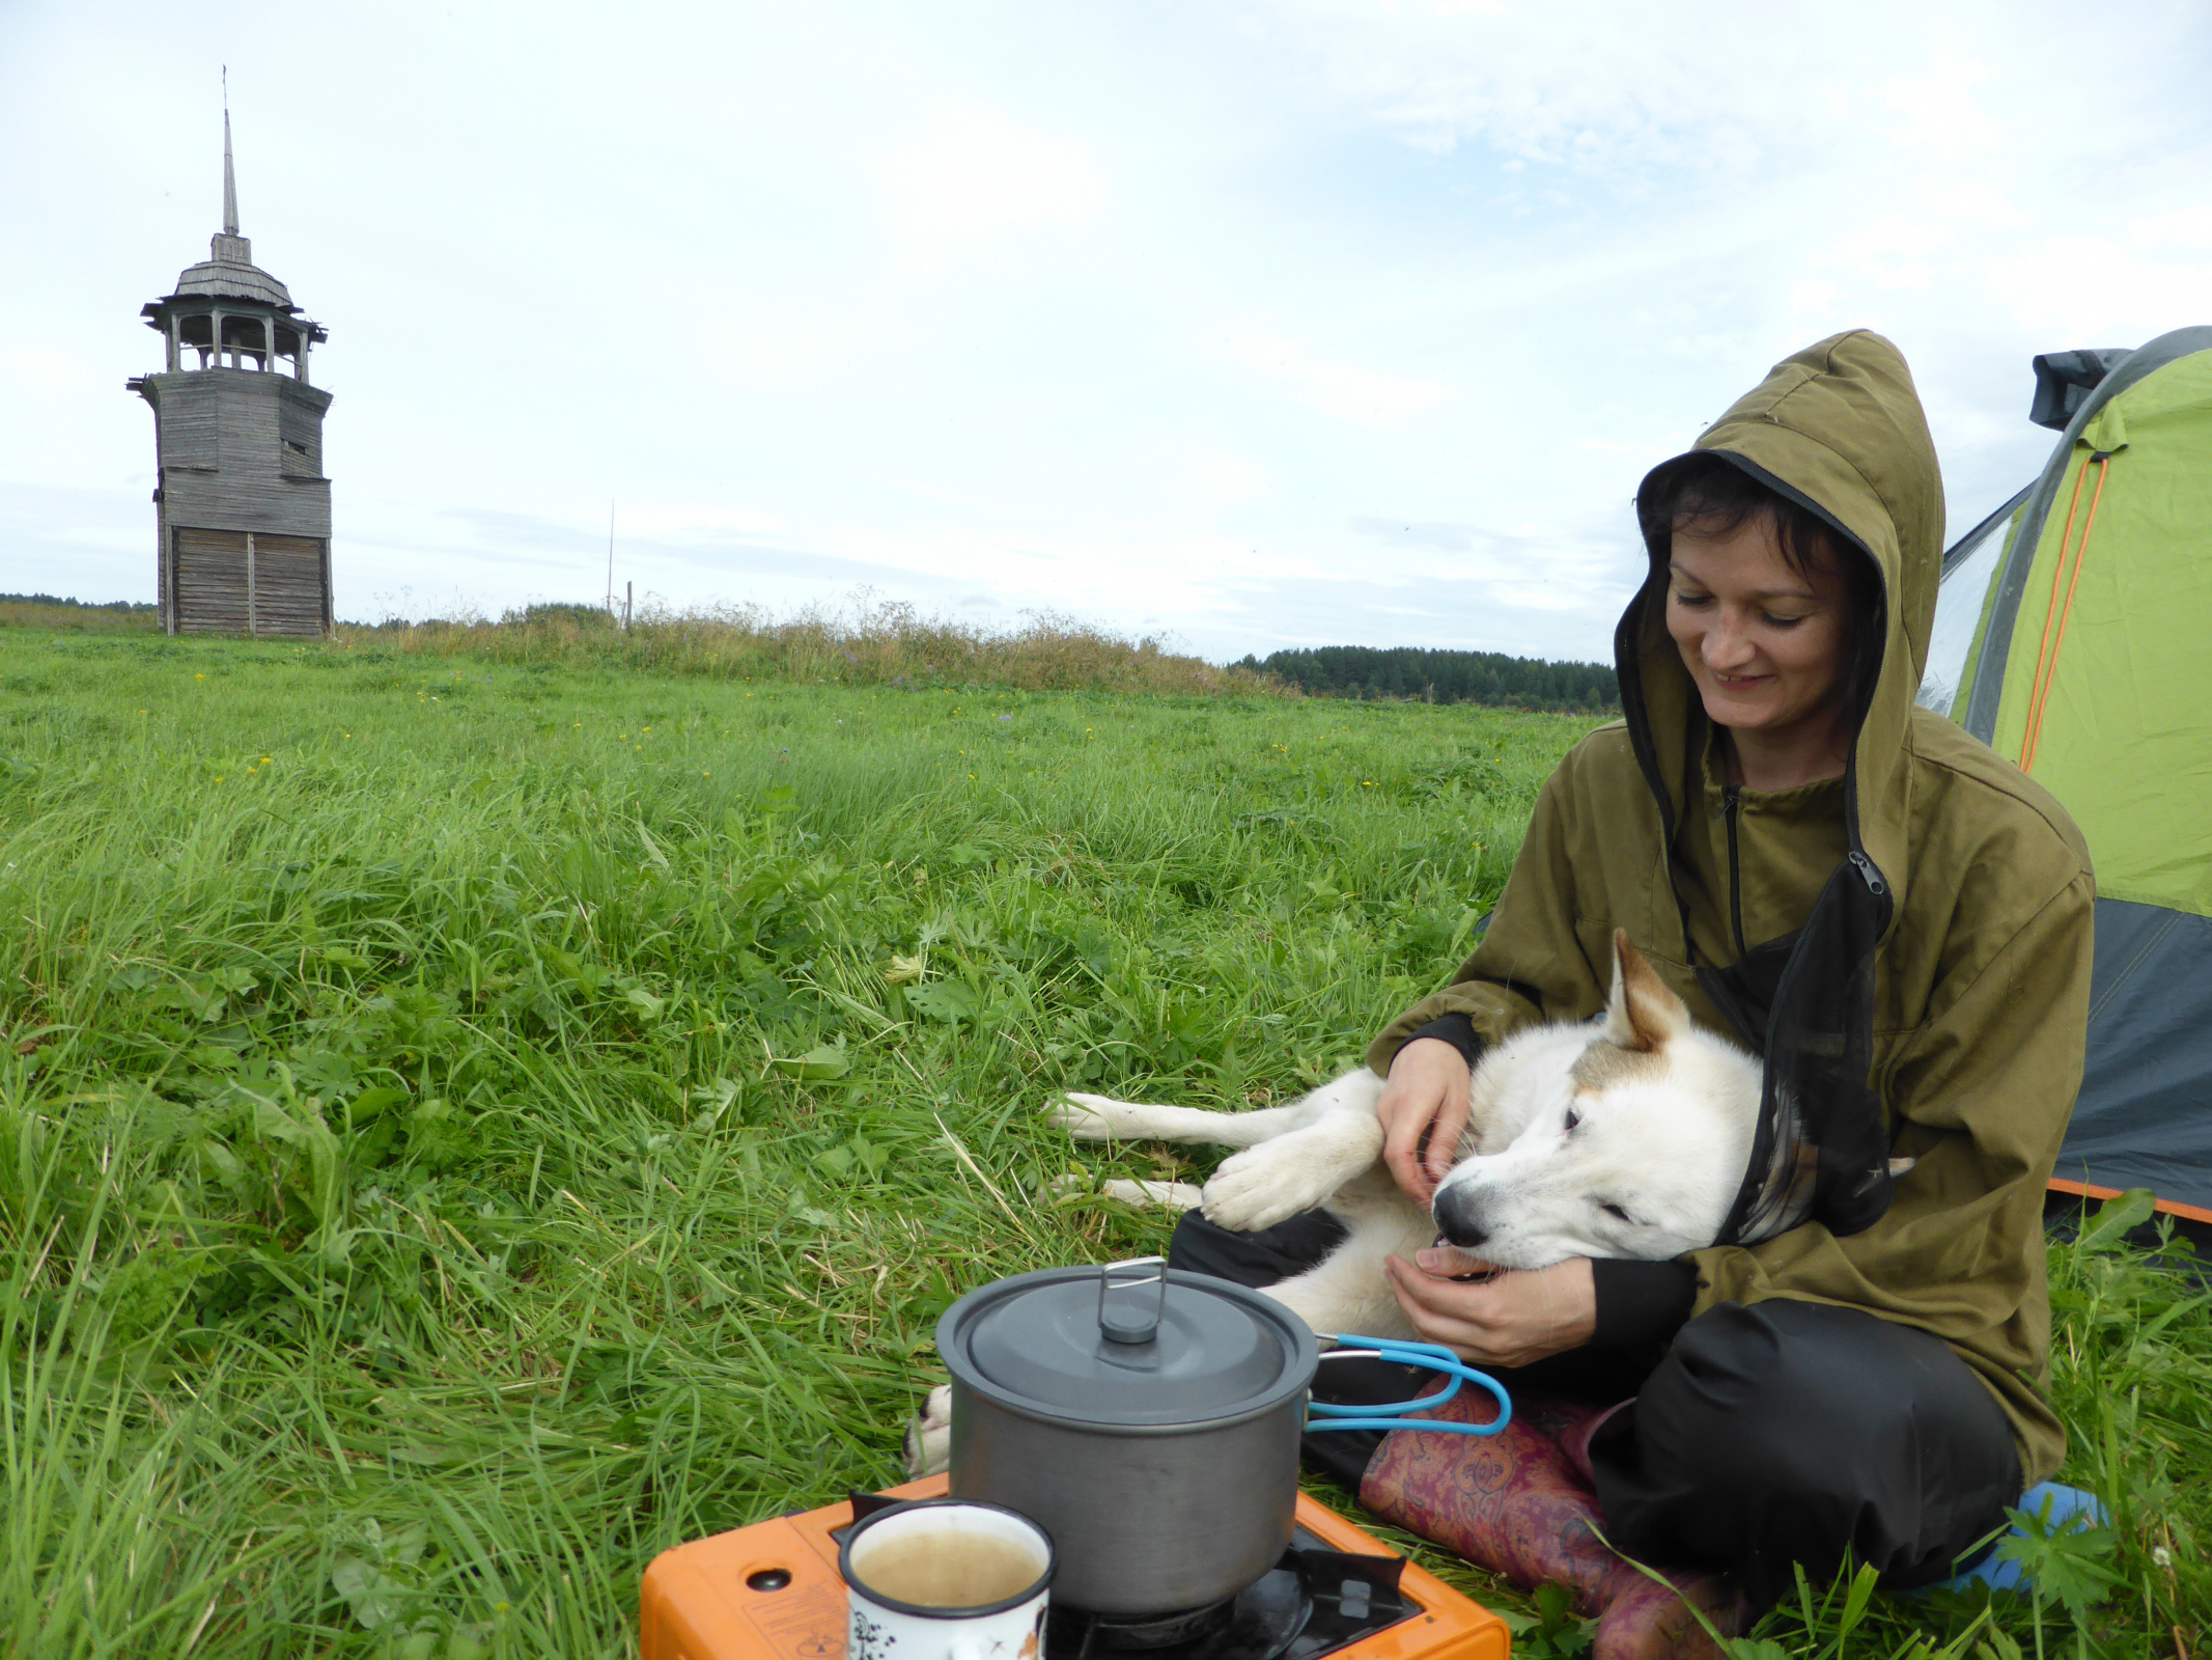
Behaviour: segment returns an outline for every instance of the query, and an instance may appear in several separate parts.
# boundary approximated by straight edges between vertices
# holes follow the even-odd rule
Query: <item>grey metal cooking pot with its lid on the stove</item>
[[[1199,1609],[1290,1545],[1314,1332],[1164,1257],[1044,1268],[938,1321],[953,1374],[951,1492],[1053,1536],[1053,1605]]]

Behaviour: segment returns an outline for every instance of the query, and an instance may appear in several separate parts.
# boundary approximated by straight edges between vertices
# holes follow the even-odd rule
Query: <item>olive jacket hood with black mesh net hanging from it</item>
[[[1836,531],[1843,558],[1869,560],[1880,578],[1880,615],[1854,618],[1858,664],[1847,684],[1858,728],[1845,766],[1845,863],[1770,965],[1701,965],[1688,910],[1681,936],[1683,961],[1723,1009],[1765,1011],[1761,1129],[1723,1242],[1772,1237],[1805,1220],[1856,1233],[1889,1208],[1887,1111],[1869,1082],[1874,958],[1911,883],[1911,710],[1942,571],[1942,474],[1905,356],[1865,330],[1776,363],[1690,454],[1719,454],[1812,509]],[[1639,502],[1683,460],[1646,474]],[[1703,788],[1710,724],[1666,631],[1670,540],[1663,529],[1650,538],[1650,569],[1613,651],[1672,872],[1677,830]],[[1747,994],[1747,974],[1767,983]]]

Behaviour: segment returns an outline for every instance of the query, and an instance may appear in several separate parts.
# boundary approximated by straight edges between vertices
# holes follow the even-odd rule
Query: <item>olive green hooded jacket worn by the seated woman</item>
[[[1847,777],[1774,792],[1721,784],[1701,699],[1666,633],[1661,536],[1615,642],[1628,719],[1551,775],[1480,950],[1367,1060],[1387,1071],[1411,1031],[1451,1011],[1484,1042],[1597,1014],[1615,927],[1701,1025],[1728,1031],[1712,969],[1750,963],[1767,943],[1787,952],[1816,901],[1856,872],[1880,896],[1865,912],[1871,994],[1858,998],[1851,1045],[1867,1087],[1840,1091],[1863,1109],[1838,1111],[1858,1111],[1889,1153],[1918,1162],[1887,1204],[1867,1193],[1869,1177],[1840,1211],[1692,1253],[1692,1313],[1794,1297],[1929,1330],[1997,1394],[2035,1483],[2066,1450],[2044,1399],[2042,1200],[2081,1082],[2088,848],[2039,786],[1913,704],[1942,485],[1898,350],[1867,332],[1820,341],[1778,363],[1697,447],[1814,507],[1880,571],[1882,615],[1860,622],[1860,653],[1878,642],[1880,660],[1876,671],[1863,655]],[[1774,1067],[1770,1047],[1770,1098]]]

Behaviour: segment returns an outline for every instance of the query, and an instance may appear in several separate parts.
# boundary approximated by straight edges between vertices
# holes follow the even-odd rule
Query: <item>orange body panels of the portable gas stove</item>
[[[936,1498],[945,1490],[945,1476],[929,1476],[889,1494]],[[825,1505],[655,1556],[637,1609],[644,1660],[843,1660],[845,1580],[836,1571],[832,1532],[847,1523],[849,1503]],[[1329,1549],[1391,1554],[1303,1492],[1298,1527]],[[1413,1602],[1413,1614],[1336,1653],[1356,1660],[1509,1660],[1513,1638],[1506,1622],[1418,1563],[1405,1565],[1398,1591]]]

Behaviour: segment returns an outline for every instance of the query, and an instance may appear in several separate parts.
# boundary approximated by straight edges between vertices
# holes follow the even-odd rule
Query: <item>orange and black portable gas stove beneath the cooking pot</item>
[[[945,1490],[929,1476],[661,1552],[637,1609],[644,1660],[843,1660],[843,1529],[876,1505]],[[1486,1607],[1301,1492],[1290,1549],[1228,1602],[1141,1620],[1055,1607],[1044,1658],[1509,1660],[1511,1647]]]

